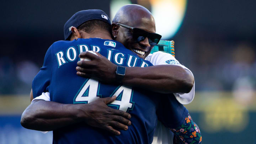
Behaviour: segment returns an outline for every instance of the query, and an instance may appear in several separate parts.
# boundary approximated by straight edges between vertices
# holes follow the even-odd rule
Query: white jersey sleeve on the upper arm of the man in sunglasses
[[[193,75],[193,73],[188,68],[186,68],[186,66],[180,64],[180,62],[178,62],[178,60],[176,60],[175,57],[169,53],[164,53],[160,51],[155,52],[153,54],[149,54],[145,60],[148,60],[153,65],[165,65],[165,64],[178,65],[178,66],[181,66],[183,69],[189,71]],[[177,101],[183,105],[187,105],[191,103],[194,99],[194,87],[195,87],[195,84],[193,84],[193,88],[187,94],[174,93],[174,96],[176,97]]]

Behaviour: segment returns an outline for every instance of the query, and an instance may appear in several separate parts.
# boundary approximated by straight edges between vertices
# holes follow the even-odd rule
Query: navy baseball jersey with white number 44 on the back
[[[54,130],[53,143],[151,144],[157,119],[169,128],[181,125],[188,111],[174,96],[126,85],[106,85],[76,75],[78,55],[88,50],[101,53],[117,65],[152,66],[117,41],[100,38],[58,41],[47,50],[43,67],[33,80],[33,96],[49,91],[51,101],[76,104],[116,95],[116,100],[108,106],[129,112],[132,125],[116,136],[80,122]]]

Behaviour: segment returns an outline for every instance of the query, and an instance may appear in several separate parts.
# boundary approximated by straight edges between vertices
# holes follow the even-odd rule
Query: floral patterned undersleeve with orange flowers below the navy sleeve
[[[201,132],[189,113],[180,127],[169,129],[174,133],[174,144],[199,144],[202,142]]]

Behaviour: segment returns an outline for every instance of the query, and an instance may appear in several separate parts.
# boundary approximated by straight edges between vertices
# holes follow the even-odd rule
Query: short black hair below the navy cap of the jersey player
[[[95,30],[107,31],[112,35],[112,27],[109,23],[101,20],[90,20],[82,23],[77,27],[78,30],[82,30],[86,33],[92,33]]]

